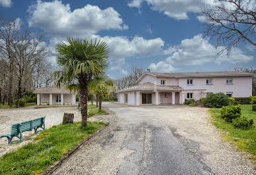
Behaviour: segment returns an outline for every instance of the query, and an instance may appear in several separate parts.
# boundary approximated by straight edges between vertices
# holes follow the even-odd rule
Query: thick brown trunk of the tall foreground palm
[[[87,126],[87,97],[88,97],[88,80],[79,78],[79,99],[82,115],[82,126]]]

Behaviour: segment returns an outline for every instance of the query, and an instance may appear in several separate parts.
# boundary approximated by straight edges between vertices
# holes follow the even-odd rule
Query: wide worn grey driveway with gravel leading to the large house
[[[105,104],[110,126],[55,174],[255,174],[198,107]]]

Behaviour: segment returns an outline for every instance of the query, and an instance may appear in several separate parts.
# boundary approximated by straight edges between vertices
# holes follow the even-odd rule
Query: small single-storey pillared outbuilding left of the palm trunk
[[[37,88],[33,93],[37,94],[37,105],[75,105],[76,103],[74,91],[69,91],[64,86]]]

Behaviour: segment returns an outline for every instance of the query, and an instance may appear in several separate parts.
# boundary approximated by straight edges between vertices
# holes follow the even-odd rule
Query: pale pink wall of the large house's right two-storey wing
[[[234,77],[233,84],[226,84],[226,78],[214,77],[212,85],[207,85],[207,78],[179,78],[179,86],[183,89],[207,89],[207,92],[218,93],[232,92],[233,97],[249,97],[252,93],[251,77]],[[187,79],[193,79],[193,85],[187,85]]]

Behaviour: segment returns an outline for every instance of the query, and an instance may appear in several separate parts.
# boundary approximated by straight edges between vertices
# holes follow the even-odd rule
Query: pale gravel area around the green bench
[[[60,124],[63,120],[64,112],[74,113],[74,121],[80,121],[81,115],[78,112],[77,107],[55,107],[55,108],[43,108],[34,109],[34,106],[22,107],[19,109],[0,109],[0,136],[3,134],[9,134],[11,132],[11,125],[46,116],[46,128],[51,128],[53,125]],[[90,118],[94,120],[95,118]],[[6,137],[0,139],[0,157],[9,151],[13,151],[22,145],[32,141],[32,132],[24,132],[22,136],[24,141],[22,143],[16,142],[8,145],[8,139]]]

